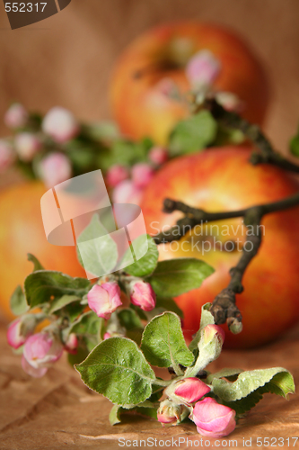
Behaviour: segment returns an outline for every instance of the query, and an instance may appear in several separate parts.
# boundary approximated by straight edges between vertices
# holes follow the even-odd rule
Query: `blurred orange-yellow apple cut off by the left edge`
[[[40,198],[47,191],[36,181],[18,184],[0,193],[0,310],[12,320],[10,297],[33,269],[27,253],[33,254],[47,270],[86,277],[74,247],[48,243],[42,224]]]

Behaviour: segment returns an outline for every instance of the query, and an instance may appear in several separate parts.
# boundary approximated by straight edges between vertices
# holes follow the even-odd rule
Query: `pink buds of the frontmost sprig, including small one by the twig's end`
[[[216,347],[222,347],[224,331],[217,325],[207,325],[202,329],[201,339],[205,345],[215,341]],[[235,411],[218,403],[213,398],[212,386],[198,377],[176,378],[164,393],[167,399],[157,411],[157,419],[163,426],[177,425],[189,416],[202,436],[224,437],[235,428]]]

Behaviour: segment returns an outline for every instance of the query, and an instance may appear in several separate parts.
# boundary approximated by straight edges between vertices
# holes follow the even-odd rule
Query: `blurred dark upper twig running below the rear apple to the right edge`
[[[194,101],[196,102],[196,99]],[[246,121],[246,119],[243,119],[236,112],[226,111],[221,104],[216,102],[212,95],[207,95],[203,102],[198,105],[195,104],[195,108],[197,112],[201,109],[208,110],[214,119],[222,123],[225,127],[242,131],[244,136],[259,148],[259,152],[252,152],[251,164],[273,164],[290,172],[299,173],[299,166],[296,166],[277,152],[264,133],[259,129],[258,125]]]

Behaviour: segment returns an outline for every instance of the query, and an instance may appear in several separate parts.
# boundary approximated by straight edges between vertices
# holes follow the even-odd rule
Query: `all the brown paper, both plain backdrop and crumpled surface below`
[[[60,104],[83,120],[109,118],[107,89],[121,50],[148,27],[190,18],[231,26],[256,50],[272,85],[265,130],[277,148],[286,151],[299,120],[298,0],[73,0],[47,21],[16,31],[10,30],[0,4],[0,118],[13,99],[41,112]],[[6,133],[0,120],[0,134]],[[0,185],[14,177],[2,176]],[[162,428],[152,420],[127,419],[110,427],[110,402],[89,392],[64,360],[40,380],[24,374],[20,357],[13,356],[5,342],[4,329],[3,325],[0,449],[117,449],[120,436],[198,437],[192,424]],[[268,347],[225,351],[214,368],[285,366],[299,383],[298,356],[299,329]],[[229,439],[237,439],[242,447],[242,438],[252,437],[251,448],[258,448],[256,437],[292,436],[299,436],[298,396],[285,401],[268,394]]]

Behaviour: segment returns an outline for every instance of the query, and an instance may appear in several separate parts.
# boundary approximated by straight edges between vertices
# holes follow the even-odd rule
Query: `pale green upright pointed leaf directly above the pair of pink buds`
[[[98,214],[77,238],[77,254],[86,272],[95,276],[110,274],[118,262],[118,246],[103,227]]]

